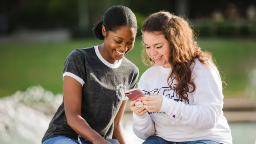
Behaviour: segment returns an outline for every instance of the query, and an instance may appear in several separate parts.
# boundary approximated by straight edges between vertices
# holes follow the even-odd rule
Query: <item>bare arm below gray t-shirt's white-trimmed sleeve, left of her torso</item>
[[[81,117],[82,85],[70,76],[63,81],[64,107],[67,124],[93,144],[109,144]]]

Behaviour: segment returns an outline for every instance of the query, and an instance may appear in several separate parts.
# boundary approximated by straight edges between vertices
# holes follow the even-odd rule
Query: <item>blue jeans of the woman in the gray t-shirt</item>
[[[77,139],[67,136],[56,136],[46,139],[42,144],[79,144],[79,142]]]

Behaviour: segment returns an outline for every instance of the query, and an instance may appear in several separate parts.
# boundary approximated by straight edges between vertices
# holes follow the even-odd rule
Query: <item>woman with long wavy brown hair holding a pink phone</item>
[[[209,52],[197,46],[182,17],[157,12],[142,27],[151,64],[138,82],[143,107],[131,101],[134,133],[143,144],[231,144],[222,81]]]

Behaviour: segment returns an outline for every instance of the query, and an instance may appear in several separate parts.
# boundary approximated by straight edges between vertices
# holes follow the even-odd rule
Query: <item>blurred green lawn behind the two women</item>
[[[64,43],[0,43],[0,97],[12,95],[29,86],[41,85],[54,94],[62,93],[62,70],[67,55],[76,48],[99,45],[95,38]],[[199,39],[199,46],[212,53],[224,74],[227,97],[244,96],[250,83],[248,73],[256,68],[256,40]],[[147,69],[140,59],[140,38],[126,57],[140,69]]]

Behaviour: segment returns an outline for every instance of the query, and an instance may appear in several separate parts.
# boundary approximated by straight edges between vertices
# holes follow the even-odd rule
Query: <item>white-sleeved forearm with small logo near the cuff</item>
[[[164,96],[163,101],[160,112],[170,115],[174,121],[202,130],[215,127],[222,109],[222,104],[213,102],[204,105],[189,105]]]

